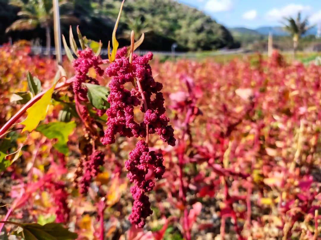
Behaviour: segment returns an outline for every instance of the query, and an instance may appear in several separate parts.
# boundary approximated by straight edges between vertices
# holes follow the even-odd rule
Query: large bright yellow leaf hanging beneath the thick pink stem
[[[44,120],[50,104],[52,93],[55,91],[56,84],[45,92],[42,97],[27,109],[27,118],[20,124],[25,125],[22,132],[34,130],[41,120]]]

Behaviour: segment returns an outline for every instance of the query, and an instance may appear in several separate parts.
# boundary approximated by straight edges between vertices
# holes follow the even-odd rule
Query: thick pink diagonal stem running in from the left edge
[[[64,88],[66,86],[69,86],[70,84],[72,84],[74,82],[74,80],[76,79],[75,76],[73,76],[72,78],[69,78],[67,81],[65,81],[64,83],[59,83],[56,85],[55,90],[59,90],[61,88]],[[0,136],[2,137],[3,134],[16,122],[20,119],[20,117],[27,111],[28,108],[30,108],[34,103],[36,103],[43,94],[45,94],[45,92],[47,92],[49,89],[47,89],[46,91],[40,92],[38,93],[34,98],[32,98],[29,102],[27,102],[22,108],[20,108],[20,110],[13,115],[13,117],[11,117],[4,125],[3,127],[0,129]]]

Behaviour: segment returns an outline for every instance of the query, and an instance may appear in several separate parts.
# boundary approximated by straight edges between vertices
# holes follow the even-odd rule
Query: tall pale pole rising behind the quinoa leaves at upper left
[[[59,65],[62,64],[61,56],[61,32],[60,32],[60,17],[59,17],[59,3],[58,0],[52,0],[52,6],[54,10],[54,36],[55,36],[55,48],[56,48],[56,60]]]

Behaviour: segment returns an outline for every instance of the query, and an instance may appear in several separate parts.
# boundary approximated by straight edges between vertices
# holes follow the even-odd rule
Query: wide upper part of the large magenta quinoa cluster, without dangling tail
[[[110,108],[106,112],[108,128],[102,142],[104,144],[114,143],[117,132],[121,136],[146,137],[145,130],[148,124],[149,134],[157,133],[161,140],[174,146],[174,130],[168,125],[169,118],[165,116],[164,98],[160,92],[163,85],[153,79],[152,69],[148,64],[152,60],[152,53],[143,57],[134,55],[132,64],[123,54],[125,51],[119,50],[117,54],[119,58],[106,69],[107,76],[112,79],[109,83],[110,94],[108,96]],[[148,108],[145,112],[144,106],[141,106],[141,111],[145,112],[145,115],[144,121],[140,124],[134,121],[134,107],[140,104],[141,93],[137,88],[133,88],[131,92],[124,88],[124,84],[134,82],[134,78],[142,86]],[[151,99],[152,94],[155,94],[153,100]]]

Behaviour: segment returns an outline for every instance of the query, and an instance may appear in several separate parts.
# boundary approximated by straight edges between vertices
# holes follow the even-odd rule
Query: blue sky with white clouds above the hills
[[[321,22],[321,0],[176,0],[211,15],[227,27],[257,28],[280,25],[282,16],[298,11]]]

